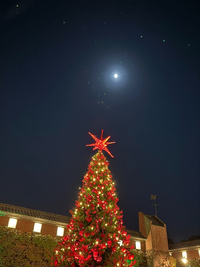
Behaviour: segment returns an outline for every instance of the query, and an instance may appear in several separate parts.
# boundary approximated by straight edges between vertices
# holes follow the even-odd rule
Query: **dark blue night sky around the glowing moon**
[[[1,10],[1,202],[70,216],[104,129],[126,228],[156,194],[168,237],[199,235],[198,1]]]

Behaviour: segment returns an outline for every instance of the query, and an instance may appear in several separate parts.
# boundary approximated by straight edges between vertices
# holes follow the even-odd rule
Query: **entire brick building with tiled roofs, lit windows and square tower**
[[[24,232],[40,233],[61,237],[66,234],[66,224],[70,223],[68,216],[57,215],[49,212],[32,210],[24,207],[0,203],[0,225],[21,230]],[[3,214],[5,213],[5,214]],[[4,216],[5,215],[5,216]],[[126,229],[130,234],[130,243],[135,248],[146,252],[148,250],[163,250],[169,252],[174,258],[199,257],[200,240],[175,243],[167,243],[166,224],[157,216],[138,212],[139,231]]]

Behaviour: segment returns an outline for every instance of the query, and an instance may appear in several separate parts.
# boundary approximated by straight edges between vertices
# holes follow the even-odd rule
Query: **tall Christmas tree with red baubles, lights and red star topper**
[[[89,133],[90,134],[90,133]],[[108,169],[108,161],[102,154],[110,136],[98,139],[90,134],[98,152],[92,157],[83,185],[76,200],[76,209],[71,211],[67,234],[55,249],[54,265],[71,267],[131,267],[137,266],[133,247],[129,247],[130,235],[122,225],[122,211],[117,205],[115,186]]]

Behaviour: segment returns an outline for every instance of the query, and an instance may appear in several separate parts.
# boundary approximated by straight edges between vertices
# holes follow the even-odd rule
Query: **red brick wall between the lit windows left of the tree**
[[[0,225],[8,226],[9,219],[10,219],[9,217],[1,216],[0,217]],[[33,232],[34,223],[35,222],[32,220],[18,219],[16,229],[21,230],[23,232]],[[61,226],[61,227],[63,227],[63,226]],[[42,223],[41,234],[42,235],[50,235],[50,236],[55,237],[57,234],[57,228],[58,228],[58,226],[56,226],[56,225]],[[64,235],[65,234],[66,234],[66,227],[64,227]]]

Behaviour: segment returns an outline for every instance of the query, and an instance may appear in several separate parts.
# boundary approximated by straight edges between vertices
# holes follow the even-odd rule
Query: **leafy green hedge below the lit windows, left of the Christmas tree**
[[[50,267],[58,240],[0,226],[0,266]]]

